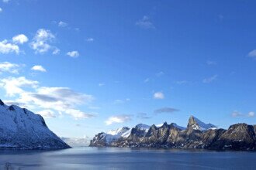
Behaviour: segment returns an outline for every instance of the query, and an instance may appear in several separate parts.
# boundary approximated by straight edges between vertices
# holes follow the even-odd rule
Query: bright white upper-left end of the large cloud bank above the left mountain
[[[16,94],[24,93],[22,87],[36,88],[37,81],[27,80],[25,76],[20,77],[8,77],[0,80],[0,87],[3,87],[7,96],[13,97]]]

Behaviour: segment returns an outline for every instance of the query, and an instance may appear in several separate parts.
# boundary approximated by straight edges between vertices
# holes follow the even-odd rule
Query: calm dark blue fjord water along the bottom
[[[0,150],[0,169],[255,169],[256,152],[135,148]]]

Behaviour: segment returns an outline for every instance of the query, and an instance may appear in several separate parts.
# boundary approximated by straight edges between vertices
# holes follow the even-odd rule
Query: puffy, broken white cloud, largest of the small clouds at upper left
[[[50,49],[56,49],[49,44],[49,42],[52,42],[54,39],[55,36],[50,32],[50,30],[38,29],[36,36],[33,37],[33,41],[30,43],[30,46],[35,50],[35,53],[46,53]]]

